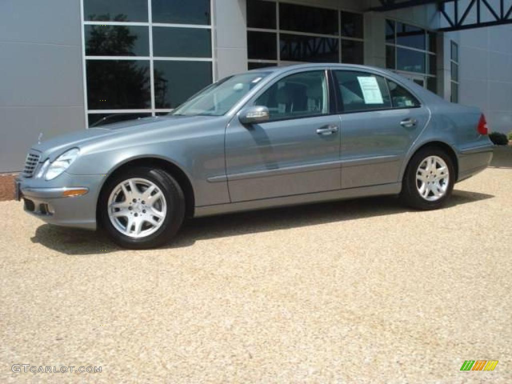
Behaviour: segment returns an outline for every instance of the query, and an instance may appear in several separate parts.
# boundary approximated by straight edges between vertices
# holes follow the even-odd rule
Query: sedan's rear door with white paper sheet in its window
[[[342,188],[396,183],[428,109],[395,81],[336,70],[340,101]]]

